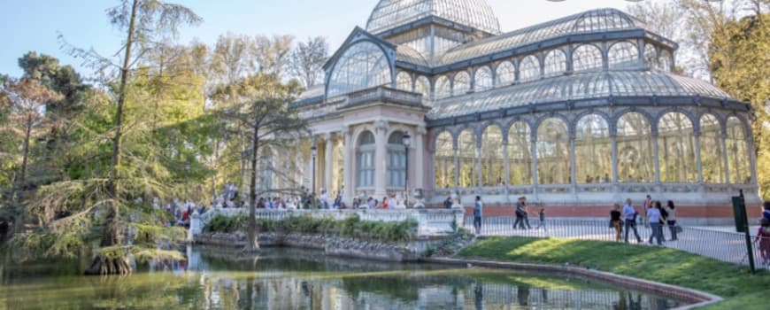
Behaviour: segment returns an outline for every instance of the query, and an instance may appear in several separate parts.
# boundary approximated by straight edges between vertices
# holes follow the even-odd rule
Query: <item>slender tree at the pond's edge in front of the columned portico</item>
[[[282,83],[276,74],[258,74],[241,82],[226,85],[219,89],[222,101],[232,102],[221,110],[221,117],[241,124],[243,136],[249,136],[249,149],[244,155],[250,161],[249,171],[249,227],[245,251],[253,252],[259,248],[257,239],[257,220],[255,207],[257,198],[269,192],[281,189],[266,189],[258,192],[257,175],[259,154],[268,146],[278,147],[285,139],[298,139],[306,132],[306,124],[289,107],[289,103],[298,93],[296,82]],[[274,167],[266,167],[272,172],[281,173]],[[284,172],[285,173],[285,172]],[[293,190],[293,189],[282,189]]]

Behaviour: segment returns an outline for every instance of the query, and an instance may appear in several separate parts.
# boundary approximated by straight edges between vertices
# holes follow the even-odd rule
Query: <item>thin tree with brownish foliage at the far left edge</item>
[[[21,136],[23,141],[21,165],[11,195],[15,200],[12,211],[14,230],[20,232],[24,227],[21,200],[24,190],[27,189],[30,141],[37,129],[48,120],[45,117],[45,106],[51,101],[60,100],[62,96],[45,88],[38,81],[28,78],[20,81],[6,81],[4,94],[11,110],[10,123],[15,126],[6,126],[3,131]]]

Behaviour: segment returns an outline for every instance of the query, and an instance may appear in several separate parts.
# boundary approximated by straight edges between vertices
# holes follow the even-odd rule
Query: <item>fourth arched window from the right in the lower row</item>
[[[618,178],[620,182],[654,182],[655,158],[650,120],[637,112],[618,120]]]

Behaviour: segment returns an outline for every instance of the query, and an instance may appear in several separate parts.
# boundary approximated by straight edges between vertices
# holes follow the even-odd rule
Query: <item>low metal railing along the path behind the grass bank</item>
[[[616,241],[616,231],[610,227],[609,219],[601,220],[574,220],[574,219],[546,219],[541,222],[537,218],[529,218],[531,229],[513,228],[516,218],[513,216],[489,216],[481,219],[481,236],[530,236],[530,237],[555,237],[596,241]],[[526,222],[524,226],[527,227]],[[463,227],[474,230],[474,217],[466,216]],[[620,242],[625,242],[627,229],[621,225]],[[629,244],[657,244],[657,240],[651,240],[651,228],[641,223],[636,223],[636,231],[642,242],[637,242],[633,229],[628,229]],[[677,240],[671,240],[672,234],[669,227],[663,226],[663,246],[677,249],[697,255],[721,260],[736,265],[749,265],[746,252],[746,239],[743,233],[720,231],[717,229],[703,229],[682,227],[677,234]],[[770,269],[770,244],[766,246],[765,256],[762,255],[760,244],[770,243],[770,239],[756,238],[756,230],[751,231],[752,251],[757,268]]]

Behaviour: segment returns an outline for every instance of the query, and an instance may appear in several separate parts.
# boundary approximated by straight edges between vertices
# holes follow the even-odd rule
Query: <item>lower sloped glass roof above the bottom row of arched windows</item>
[[[729,95],[705,82],[661,71],[623,71],[573,74],[513,85],[466,96],[438,100],[427,113],[430,120],[489,112],[521,105],[601,97]]]

